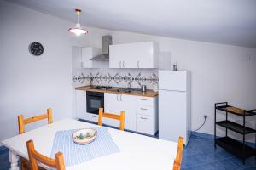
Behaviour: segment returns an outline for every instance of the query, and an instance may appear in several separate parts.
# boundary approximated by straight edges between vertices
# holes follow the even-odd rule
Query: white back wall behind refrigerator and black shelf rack
[[[101,47],[102,36],[107,34],[112,35],[113,44],[154,40],[159,43],[161,54],[171,53],[172,64],[177,61],[178,69],[191,71],[193,130],[201,125],[203,116],[207,115],[206,125],[199,132],[213,134],[213,107],[216,102],[228,101],[230,105],[256,109],[256,48],[187,41],[124,31],[95,28],[89,28],[89,30],[90,34],[80,39],[80,45],[84,47]],[[255,116],[248,118],[247,126],[256,127],[255,118]],[[218,134],[221,135],[223,132],[220,130]],[[236,137],[241,139],[239,135]],[[247,140],[254,141],[254,135],[248,135]]]

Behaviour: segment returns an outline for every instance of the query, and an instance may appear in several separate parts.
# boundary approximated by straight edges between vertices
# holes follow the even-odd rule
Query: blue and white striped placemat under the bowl
[[[96,139],[92,143],[84,145],[73,142],[72,133],[76,130],[78,129],[58,131],[55,134],[51,157],[55,158],[55,153],[61,151],[66,167],[120,151],[119,147],[113,142],[106,127],[96,127]]]

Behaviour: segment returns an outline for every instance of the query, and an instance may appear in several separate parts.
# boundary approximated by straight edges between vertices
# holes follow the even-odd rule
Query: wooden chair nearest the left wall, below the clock
[[[32,122],[37,122],[42,119],[48,119],[48,124],[52,123],[52,109],[47,109],[47,113],[38,115],[38,116],[33,116],[27,119],[24,119],[22,115],[18,116],[18,123],[19,123],[19,133],[25,133],[25,125],[28,123]],[[27,161],[25,158],[21,157],[20,158],[21,162],[21,170],[26,170],[26,169],[31,169],[29,166],[29,161]],[[43,169],[43,168],[40,168]]]

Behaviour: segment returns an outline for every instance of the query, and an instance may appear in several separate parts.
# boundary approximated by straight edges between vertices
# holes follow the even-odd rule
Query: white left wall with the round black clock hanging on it
[[[72,116],[73,37],[67,29],[73,24],[0,1],[0,141],[18,134],[20,114],[35,116],[50,107],[54,121]],[[40,57],[28,51],[34,41],[44,45]]]

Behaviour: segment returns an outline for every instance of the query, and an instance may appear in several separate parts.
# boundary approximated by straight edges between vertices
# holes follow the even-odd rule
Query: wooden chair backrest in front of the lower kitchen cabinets
[[[119,129],[124,130],[124,128],[125,128],[125,111],[121,111],[120,115],[115,115],[115,114],[112,114],[112,113],[103,113],[103,108],[100,108],[99,109],[98,125],[102,125],[102,118],[103,117],[119,120],[120,121]]]

